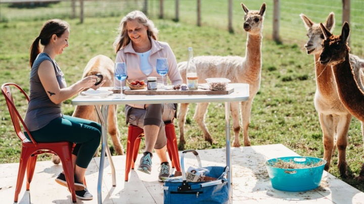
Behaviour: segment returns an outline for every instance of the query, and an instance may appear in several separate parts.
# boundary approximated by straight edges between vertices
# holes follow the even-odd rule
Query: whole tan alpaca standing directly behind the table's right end
[[[197,75],[199,83],[206,83],[207,78],[227,78],[232,83],[247,83],[249,84],[249,100],[241,103],[241,117],[244,134],[244,146],[250,146],[248,136],[248,126],[250,123],[250,112],[252,108],[253,99],[259,90],[260,86],[260,72],[262,66],[261,59],[261,42],[262,42],[262,29],[265,12],[265,3],[262,4],[260,11],[249,11],[249,9],[241,3],[244,16],[244,30],[248,32],[246,43],[246,55],[240,56],[199,56],[194,57],[197,66]],[[179,62],[178,69],[186,83],[186,65],[187,62]],[[198,103],[194,114],[195,121],[199,124],[204,133],[205,140],[213,143],[211,134],[205,124],[205,114],[209,103]],[[184,126],[186,121],[186,114],[188,111],[188,104],[180,104],[178,112],[178,125],[179,125],[179,143],[185,144]],[[233,128],[235,139],[233,142],[234,147],[240,147],[239,134],[240,134],[240,121],[239,121],[239,103],[231,103],[231,116],[233,120]]]

